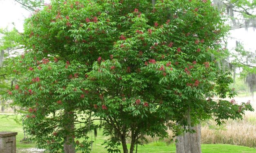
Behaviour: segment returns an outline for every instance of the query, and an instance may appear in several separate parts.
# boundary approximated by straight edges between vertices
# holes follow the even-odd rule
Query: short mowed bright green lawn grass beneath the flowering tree
[[[20,124],[15,121],[16,116],[14,115],[0,115],[0,131],[13,131],[18,132],[17,135],[17,149],[24,148],[34,148],[36,144],[29,143],[24,144],[20,143],[20,140],[23,138],[23,130],[21,122]],[[91,153],[107,153],[107,149],[104,149],[105,146],[101,144],[106,139],[105,136],[102,136],[102,131],[98,132],[98,136],[93,143],[93,148]],[[129,145],[129,144],[128,144]],[[122,148],[119,147],[122,151]],[[138,146],[138,153],[175,153],[176,148],[175,144],[167,145],[164,142],[154,142],[150,144],[145,144],[144,146]],[[256,153],[256,149],[245,147],[245,146],[235,146],[228,144],[202,144],[203,153]]]

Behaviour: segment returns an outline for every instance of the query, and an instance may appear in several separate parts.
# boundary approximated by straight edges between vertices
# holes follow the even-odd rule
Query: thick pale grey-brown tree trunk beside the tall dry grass
[[[197,125],[191,129],[196,133],[184,133],[177,137],[176,153],[201,153],[201,127]]]

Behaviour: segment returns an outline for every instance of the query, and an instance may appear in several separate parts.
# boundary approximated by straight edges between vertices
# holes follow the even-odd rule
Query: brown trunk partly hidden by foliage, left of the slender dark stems
[[[74,117],[73,114],[67,114],[67,125],[65,125],[66,136],[64,136],[64,152],[65,153],[75,153],[74,138],[71,136],[72,131],[74,130]]]

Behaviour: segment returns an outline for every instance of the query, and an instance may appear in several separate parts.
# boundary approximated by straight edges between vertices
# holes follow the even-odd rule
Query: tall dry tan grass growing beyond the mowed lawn
[[[173,143],[173,133],[168,131],[169,138],[151,138],[146,136],[148,142],[163,141]],[[225,125],[217,126],[214,120],[201,125],[202,144],[234,144],[256,148],[256,115],[245,115],[243,120],[227,120]]]

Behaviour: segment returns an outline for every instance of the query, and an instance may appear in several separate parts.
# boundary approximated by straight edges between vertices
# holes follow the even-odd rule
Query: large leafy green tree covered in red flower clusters
[[[207,0],[52,0],[25,23],[9,95],[29,108],[26,128],[42,148],[87,152],[86,133],[103,127],[109,152],[122,144],[128,153],[130,138],[133,153],[145,134],[178,135],[213,114],[221,125],[252,110],[212,100],[235,95],[218,66],[226,32]]]

